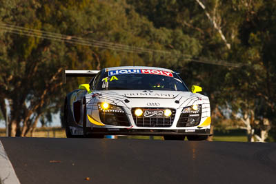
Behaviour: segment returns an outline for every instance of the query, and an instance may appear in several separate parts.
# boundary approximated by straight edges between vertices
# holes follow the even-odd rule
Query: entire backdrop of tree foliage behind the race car
[[[249,122],[252,136],[271,129],[272,140],[276,132],[275,10],[274,1],[264,0],[1,1],[0,23],[66,35],[66,41],[57,41],[12,34],[1,27],[0,95],[10,104],[10,130],[24,136],[39,119],[50,122],[66,92],[86,82],[70,79],[61,88],[62,70],[135,63],[171,68],[181,72],[189,88],[201,85],[210,96],[212,119],[218,127],[229,125],[225,120],[232,114],[239,125]],[[76,37],[79,42],[73,41]],[[206,64],[211,61],[243,67]],[[0,108],[6,114],[3,99]]]

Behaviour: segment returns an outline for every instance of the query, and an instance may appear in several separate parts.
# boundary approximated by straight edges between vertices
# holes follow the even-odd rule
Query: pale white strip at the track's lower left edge
[[[8,159],[3,144],[0,141],[0,184],[20,184],[12,163]]]

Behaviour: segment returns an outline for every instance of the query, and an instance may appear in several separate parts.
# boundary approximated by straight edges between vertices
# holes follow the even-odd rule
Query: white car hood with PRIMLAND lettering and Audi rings
[[[99,99],[108,103],[135,107],[181,108],[202,103],[207,96],[192,92],[161,90],[106,90],[99,91]]]

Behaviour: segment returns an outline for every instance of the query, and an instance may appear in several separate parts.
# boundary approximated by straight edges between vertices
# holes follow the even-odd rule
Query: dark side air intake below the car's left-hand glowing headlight
[[[128,117],[124,112],[99,112],[101,122],[106,125],[130,126]]]

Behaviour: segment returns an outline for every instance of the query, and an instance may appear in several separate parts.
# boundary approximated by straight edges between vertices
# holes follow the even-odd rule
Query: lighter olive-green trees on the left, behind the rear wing
[[[61,88],[64,69],[97,70],[133,61],[171,64],[171,54],[153,54],[147,48],[199,52],[195,39],[154,28],[126,1],[9,1],[0,8],[0,94],[9,101],[11,136],[26,136],[39,119],[59,111],[65,91],[72,88]],[[3,103],[1,111],[6,111]]]

